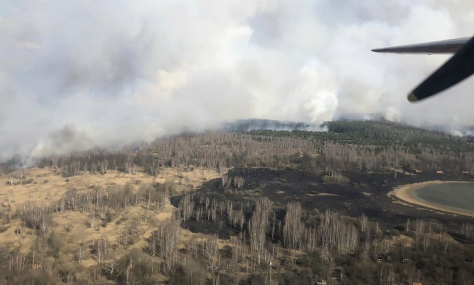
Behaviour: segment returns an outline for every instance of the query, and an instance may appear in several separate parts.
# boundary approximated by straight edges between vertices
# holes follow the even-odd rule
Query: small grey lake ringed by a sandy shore
[[[474,213],[474,183],[431,184],[415,190],[412,197],[444,208]]]

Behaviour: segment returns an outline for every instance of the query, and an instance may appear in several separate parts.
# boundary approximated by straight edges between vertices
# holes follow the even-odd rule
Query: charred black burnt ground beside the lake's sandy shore
[[[233,168],[228,177],[243,177],[245,184],[237,189],[233,185],[224,189],[221,179],[205,182],[203,186],[192,194],[194,209],[205,207],[215,200],[216,203],[232,202],[233,208],[243,208],[245,216],[244,229],[259,197],[268,197],[274,207],[276,220],[282,221],[285,206],[288,201],[299,201],[306,212],[305,221],[312,222],[312,218],[326,209],[335,210],[340,214],[358,217],[363,213],[371,221],[379,222],[383,229],[402,229],[409,219],[425,219],[438,221],[449,231],[450,224],[459,224],[471,221],[470,217],[439,214],[430,210],[423,210],[394,203],[387,193],[395,187],[404,184],[430,180],[459,180],[455,177],[424,174],[418,176],[396,176],[391,173],[344,173],[350,182],[346,185],[327,184],[323,176],[311,175],[298,169],[270,169],[270,168]],[[171,204],[178,207],[183,195],[171,198]],[[187,219],[182,226],[194,233],[218,234],[219,238],[227,239],[240,232],[231,226],[224,211],[217,212],[219,222],[207,218],[196,220]],[[454,238],[458,235],[452,233]]]

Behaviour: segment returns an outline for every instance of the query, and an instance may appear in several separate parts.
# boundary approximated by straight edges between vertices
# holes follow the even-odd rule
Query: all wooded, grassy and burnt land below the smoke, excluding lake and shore
[[[7,161],[0,283],[474,282],[472,218],[386,195],[472,180],[469,138],[386,121],[323,129],[187,133],[42,158],[36,172]]]

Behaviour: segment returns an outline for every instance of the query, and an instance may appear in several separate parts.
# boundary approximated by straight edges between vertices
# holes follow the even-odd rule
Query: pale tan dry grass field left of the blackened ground
[[[13,185],[10,182],[11,176],[0,177],[0,209],[4,217],[0,245],[7,247],[10,252],[31,256],[36,251],[34,250],[36,231],[20,217],[15,216],[15,212],[29,207],[50,209],[51,233],[60,243],[58,246],[60,250],[52,256],[50,252],[37,251],[35,260],[38,263],[41,262],[43,267],[45,264],[53,267],[54,264],[61,263],[62,266],[73,268],[71,270],[74,272],[81,272],[81,270],[96,266],[99,262],[119,260],[134,248],[146,248],[147,239],[153,230],[171,217],[176,208],[170,205],[169,200],[158,211],[148,210],[142,204],[132,205],[111,211],[113,217],[108,222],[96,216],[92,225],[90,211],[51,210],[68,191],[87,192],[93,188],[102,188],[107,191],[116,187],[131,187],[135,192],[144,185],[168,183],[173,185],[174,193],[180,193],[197,188],[203,182],[218,178],[219,175],[216,171],[208,169],[164,168],[157,177],[141,172],[126,174],[110,170],[104,175],[84,173],[80,176],[65,178],[58,175],[56,169],[48,167],[17,170],[13,173],[13,177]],[[134,229],[133,237],[130,237],[132,242],[124,246],[125,227],[134,221],[139,221],[139,223]],[[178,246],[184,247],[187,241],[195,239],[193,236],[200,235],[182,230]],[[102,257],[102,260],[99,260],[97,254],[92,253],[91,250],[97,241],[107,241],[109,247],[107,255]],[[82,251],[82,256],[79,262],[80,251]],[[159,275],[158,279],[160,279]],[[164,276],[161,278],[165,279]]]

